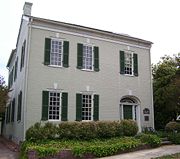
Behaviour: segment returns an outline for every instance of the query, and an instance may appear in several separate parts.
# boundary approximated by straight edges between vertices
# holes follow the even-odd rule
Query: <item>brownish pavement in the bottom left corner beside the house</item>
[[[0,159],[18,159],[17,145],[0,136]]]

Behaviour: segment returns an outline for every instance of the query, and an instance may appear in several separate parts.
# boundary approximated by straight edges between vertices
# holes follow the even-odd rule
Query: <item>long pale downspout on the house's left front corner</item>
[[[31,39],[31,21],[32,19],[29,17],[28,26],[28,36],[27,36],[27,58],[26,58],[26,70],[25,70],[25,89],[24,89],[24,128],[23,128],[23,140],[25,140],[26,136],[26,125],[27,125],[27,91],[28,91],[28,72],[29,72],[29,56],[30,56],[30,39]]]

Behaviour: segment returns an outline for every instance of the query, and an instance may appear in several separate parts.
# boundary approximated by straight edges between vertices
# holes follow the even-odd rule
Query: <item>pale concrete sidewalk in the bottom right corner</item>
[[[140,150],[116,156],[103,157],[101,159],[151,159],[154,157],[175,154],[178,152],[180,152],[180,145],[167,145],[154,149]]]

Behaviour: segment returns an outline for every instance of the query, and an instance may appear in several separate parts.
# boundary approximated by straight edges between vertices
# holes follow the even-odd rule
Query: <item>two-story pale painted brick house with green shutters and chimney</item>
[[[4,135],[36,122],[133,119],[154,128],[150,41],[31,16],[25,3],[9,69]]]

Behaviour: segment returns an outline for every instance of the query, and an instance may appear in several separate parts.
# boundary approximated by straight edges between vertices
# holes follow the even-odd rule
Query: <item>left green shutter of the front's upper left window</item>
[[[45,38],[44,64],[50,64],[51,39]]]

